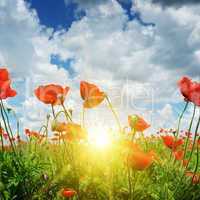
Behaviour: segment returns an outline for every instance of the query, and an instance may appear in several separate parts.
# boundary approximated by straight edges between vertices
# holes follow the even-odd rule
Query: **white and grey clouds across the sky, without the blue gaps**
[[[140,1],[138,9],[142,18],[156,24],[145,27],[137,21],[128,21],[125,11],[114,0],[95,6],[88,1],[87,7],[82,7],[87,9],[86,16],[74,22],[68,32],[56,32],[49,40],[52,30],[39,24],[36,11],[27,8],[23,0],[15,0],[15,4],[13,0],[0,3],[0,65],[9,66],[15,77],[29,77],[23,106],[32,118],[22,119],[27,126],[41,122],[38,112],[43,115],[47,109],[38,106],[38,111],[38,103],[31,97],[38,84],[70,85],[71,104],[79,108],[80,79],[96,82],[105,91],[115,86],[123,88],[128,79],[133,90],[127,96],[139,87],[140,91],[145,88],[151,91],[153,99],[138,101],[137,108],[145,108],[140,111],[136,107],[120,107],[121,112],[124,110],[123,120],[130,112],[139,112],[151,120],[152,110],[147,109],[154,100],[163,105],[154,115],[168,123],[173,108],[166,103],[180,100],[175,89],[177,79],[183,74],[194,78],[200,75],[200,6],[162,10],[159,5]],[[51,54],[59,54],[62,59],[74,58],[76,77],[72,79],[66,70],[52,65]],[[134,95],[137,99],[141,92],[134,91]]]

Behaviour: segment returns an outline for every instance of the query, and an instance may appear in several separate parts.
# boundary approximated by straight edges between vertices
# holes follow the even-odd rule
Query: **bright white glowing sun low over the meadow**
[[[94,126],[88,130],[89,143],[98,149],[105,149],[110,144],[109,130],[106,127]]]

